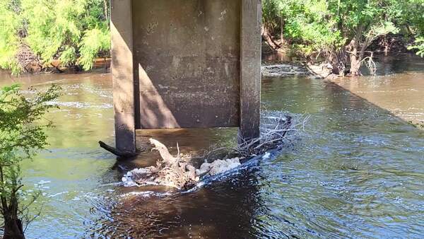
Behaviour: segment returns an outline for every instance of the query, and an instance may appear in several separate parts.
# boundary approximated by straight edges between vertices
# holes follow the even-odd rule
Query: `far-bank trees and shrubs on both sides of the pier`
[[[332,76],[375,73],[377,52],[424,57],[424,0],[263,0],[263,52],[282,49]],[[110,58],[107,0],[0,0],[0,69],[89,71]]]

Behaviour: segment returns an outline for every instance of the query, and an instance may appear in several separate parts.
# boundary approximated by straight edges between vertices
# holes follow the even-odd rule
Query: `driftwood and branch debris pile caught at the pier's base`
[[[204,177],[225,173],[239,167],[243,162],[259,156],[273,148],[281,148],[288,132],[295,132],[298,125],[304,125],[307,117],[298,124],[293,124],[292,117],[277,115],[263,117],[261,136],[257,139],[243,141],[236,148],[216,148],[196,157],[201,160],[195,168],[192,156],[172,156],[167,147],[155,139],[150,139],[154,150],[160,153],[156,166],[137,168],[122,177],[125,186],[165,185],[179,190],[190,189]]]

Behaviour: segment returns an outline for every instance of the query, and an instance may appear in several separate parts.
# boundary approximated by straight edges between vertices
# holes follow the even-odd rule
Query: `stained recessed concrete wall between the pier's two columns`
[[[239,126],[241,2],[133,1],[138,128]]]

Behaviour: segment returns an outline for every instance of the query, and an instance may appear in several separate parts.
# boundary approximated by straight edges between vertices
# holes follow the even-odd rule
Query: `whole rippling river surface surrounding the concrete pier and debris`
[[[287,149],[185,193],[120,184],[127,170],[157,158],[117,163],[98,148],[98,140],[114,140],[110,74],[0,74],[2,86],[64,88],[60,110],[48,115],[56,125],[49,151],[23,164],[27,190],[43,194],[28,238],[422,238],[424,131],[407,121],[424,119],[424,62],[406,55],[380,62],[379,76],[336,83],[264,78],[264,109],[310,115],[305,132]],[[232,144],[235,132],[155,136],[192,151]]]

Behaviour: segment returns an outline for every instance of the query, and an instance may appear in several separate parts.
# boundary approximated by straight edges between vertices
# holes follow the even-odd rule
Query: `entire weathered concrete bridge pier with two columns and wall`
[[[259,136],[261,0],[112,0],[116,148],[137,129]]]

